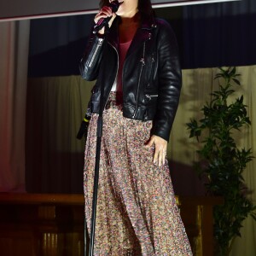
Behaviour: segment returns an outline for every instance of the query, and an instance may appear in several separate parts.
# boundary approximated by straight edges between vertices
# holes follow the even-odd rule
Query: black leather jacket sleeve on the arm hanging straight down
[[[161,20],[160,22],[162,25],[157,42],[159,98],[154,117],[153,134],[169,141],[179,102],[182,74],[175,34],[166,21]]]

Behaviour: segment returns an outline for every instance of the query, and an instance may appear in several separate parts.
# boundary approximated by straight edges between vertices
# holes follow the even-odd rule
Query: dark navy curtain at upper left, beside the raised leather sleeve
[[[28,77],[79,74],[94,15],[31,21]]]

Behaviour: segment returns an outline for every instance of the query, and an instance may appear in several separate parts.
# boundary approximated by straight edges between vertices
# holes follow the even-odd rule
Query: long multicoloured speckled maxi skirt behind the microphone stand
[[[114,99],[111,93],[103,112],[94,255],[192,255],[167,160],[162,167],[155,165],[154,148],[145,147],[152,121],[124,118]],[[93,114],[90,119],[84,158],[89,234],[97,118]]]

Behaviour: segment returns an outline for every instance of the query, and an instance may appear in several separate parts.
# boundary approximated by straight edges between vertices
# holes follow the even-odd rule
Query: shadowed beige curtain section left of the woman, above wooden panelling
[[[84,87],[74,76],[28,79],[27,192],[83,193],[84,139],[76,135],[89,97]]]

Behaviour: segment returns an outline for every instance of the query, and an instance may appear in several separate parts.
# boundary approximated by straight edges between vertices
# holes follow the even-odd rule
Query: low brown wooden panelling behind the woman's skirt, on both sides
[[[177,197],[194,255],[213,255],[212,206],[220,202]],[[84,255],[83,195],[0,194],[0,255]]]

